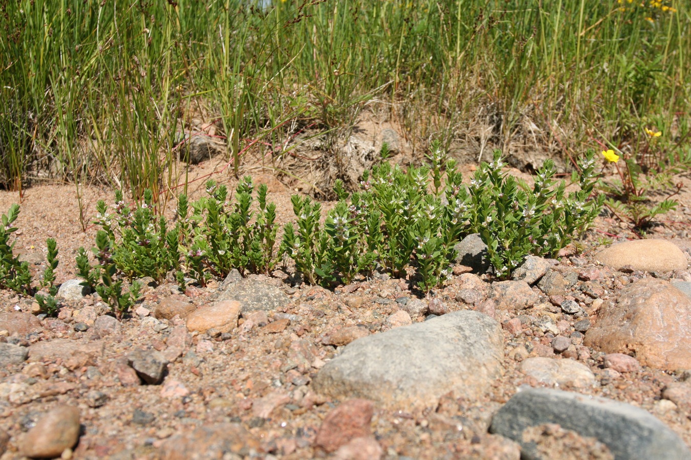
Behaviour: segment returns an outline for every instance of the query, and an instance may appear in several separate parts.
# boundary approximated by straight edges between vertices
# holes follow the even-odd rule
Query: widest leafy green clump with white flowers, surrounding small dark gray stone
[[[381,270],[393,277],[413,271],[423,292],[448,278],[453,246],[480,233],[495,274],[509,277],[528,254],[554,256],[585,232],[602,207],[593,197],[594,152],[571,178],[580,186],[565,192],[552,161],[538,171],[534,186],[502,173],[501,152],[482,163],[466,186],[456,162],[434,142],[420,168],[401,170],[384,162],[363,174],[361,190],[348,194],[337,181],[337,206],[320,227],[321,208],[292,197],[296,223],[285,227],[281,252],[310,283],[348,283],[355,274]]]

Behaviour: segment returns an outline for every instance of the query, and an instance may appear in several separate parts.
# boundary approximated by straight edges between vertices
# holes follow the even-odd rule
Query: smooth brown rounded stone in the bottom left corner
[[[21,443],[21,451],[31,458],[60,457],[79,439],[79,409],[57,406],[39,419]]]

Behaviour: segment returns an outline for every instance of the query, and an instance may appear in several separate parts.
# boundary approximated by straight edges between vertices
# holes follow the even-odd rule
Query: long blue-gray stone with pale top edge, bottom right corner
[[[520,443],[522,459],[542,459],[535,443],[523,440],[523,433],[543,423],[558,423],[565,430],[594,437],[617,460],[691,459],[681,438],[641,408],[547,388],[520,390],[495,414],[490,431]]]

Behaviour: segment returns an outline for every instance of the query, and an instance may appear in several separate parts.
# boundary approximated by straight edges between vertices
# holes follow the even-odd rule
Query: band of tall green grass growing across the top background
[[[647,126],[672,146],[688,133],[690,13],[681,0],[8,0],[0,183],[49,173],[140,196],[176,180],[191,117],[216,123],[238,174],[250,139],[279,146],[313,125],[333,141],[368,103],[419,146],[531,136],[635,153]]]

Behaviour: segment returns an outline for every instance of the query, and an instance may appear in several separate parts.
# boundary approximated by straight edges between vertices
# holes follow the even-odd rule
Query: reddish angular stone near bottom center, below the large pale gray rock
[[[334,452],[354,438],[368,437],[374,407],[368,399],[343,401],[324,417],[316,434],[316,446]]]

